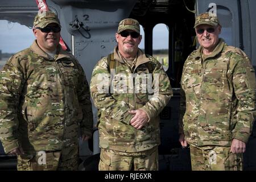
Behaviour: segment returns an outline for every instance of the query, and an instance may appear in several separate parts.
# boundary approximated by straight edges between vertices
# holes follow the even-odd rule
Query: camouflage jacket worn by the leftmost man
[[[5,152],[52,151],[92,133],[92,106],[81,65],[60,46],[51,59],[38,47],[12,56],[0,75],[0,139]]]

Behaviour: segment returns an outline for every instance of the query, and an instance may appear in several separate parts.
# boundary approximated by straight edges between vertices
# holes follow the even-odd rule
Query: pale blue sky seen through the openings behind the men
[[[142,42],[139,45],[144,49],[144,32],[141,28]],[[7,20],[0,20],[0,50],[7,53],[15,53],[24,48],[30,47],[35,39],[32,30],[19,23],[9,23]],[[166,25],[158,24],[153,31],[153,48],[168,48],[168,30]]]

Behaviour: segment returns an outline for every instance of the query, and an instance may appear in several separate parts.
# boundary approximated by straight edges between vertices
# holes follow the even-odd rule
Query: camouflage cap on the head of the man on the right
[[[218,22],[217,16],[214,16],[213,14],[209,13],[203,13],[196,16],[194,28],[196,28],[200,24],[209,24],[211,26],[217,26],[218,24],[220,24],[220,22]]]

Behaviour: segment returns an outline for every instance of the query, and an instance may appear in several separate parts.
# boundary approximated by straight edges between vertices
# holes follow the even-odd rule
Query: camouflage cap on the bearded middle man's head
[[[121,20],[118,26],[117,33],[119,34],[124,30],[133,30],[137,33],[140,33],[139,22],[131,18]]]

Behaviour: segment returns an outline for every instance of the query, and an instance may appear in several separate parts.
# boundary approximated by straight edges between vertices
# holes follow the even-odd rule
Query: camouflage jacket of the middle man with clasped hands
[[[170,80],[154,57],[146,57],[139,50],[136,65],[130,68],[117,51],[115,47],[115,69],[110,71],[108,57],[103,57],[94,68],[90,82],[91,96],[98,109],[100,147],[122,152],[149,150],[160,144],[159,113],[172,96]],[[145,64],[148,62],[152,74]],[[145,79],[139,79],[140,76]],[[149,118],[140,130],[130,125],[133,115],[128,111],[136,109],[146,111]]]

